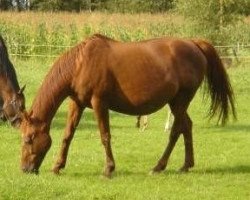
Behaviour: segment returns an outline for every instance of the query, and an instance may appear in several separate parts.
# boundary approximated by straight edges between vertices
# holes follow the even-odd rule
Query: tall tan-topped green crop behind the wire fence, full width
[[[102,33],[121,41],[174,36],[202,37],[216,45],[250,43],[250,27],[243,21],[216,30],[212,25],[199,24],[198,20],[187,21],[171,13],[131,15],[27,12],[13,15],[12,12],[4,12],[0,13],[0,19],[0,32],[7,40],[9,51],[28,56],[57,56],[94,33]],[[22,23],[19,23],[20,20]]]

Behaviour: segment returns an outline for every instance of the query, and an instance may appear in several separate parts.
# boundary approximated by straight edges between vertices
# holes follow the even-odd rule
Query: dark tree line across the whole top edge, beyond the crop
[[[227,12],[249,15],[250,0],[186,0],[185,4],[223,5]],[[182,0],[0,0],[0,10],[106,11],[119,13],[158,13],[176,9]]]

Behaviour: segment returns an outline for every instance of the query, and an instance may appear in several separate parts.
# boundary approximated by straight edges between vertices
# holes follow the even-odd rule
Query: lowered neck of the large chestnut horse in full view
[[[65,80],[62,74],[56,77],[53,70],[44,80],[32,105],[32,117],[50,126],[51,121],[63,102],[70,95],[71,80]]]

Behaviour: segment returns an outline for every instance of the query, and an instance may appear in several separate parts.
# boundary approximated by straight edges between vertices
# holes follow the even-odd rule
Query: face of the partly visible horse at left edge
[[[21,123],[22,112],[25,110],[25,97],[23,90],[20,89],[12,95],[10,100],[6,100],[2,106],[2,119],[8,119],[12,126],[18,127]]]

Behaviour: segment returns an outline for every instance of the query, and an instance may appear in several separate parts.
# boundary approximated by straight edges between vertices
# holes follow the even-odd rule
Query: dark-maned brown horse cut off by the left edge
[[[8,119],[13,126],[20,124],[20,113],[25,109],[24,88],[19,87],[7,47],[0,35],[0,118],[3,121]]]

